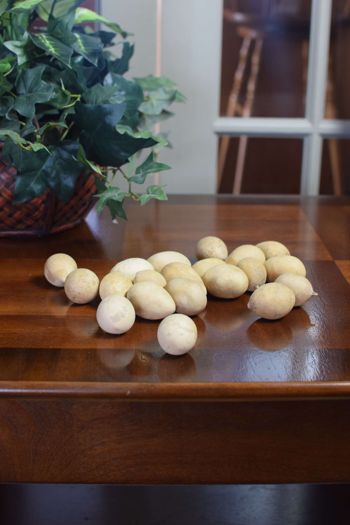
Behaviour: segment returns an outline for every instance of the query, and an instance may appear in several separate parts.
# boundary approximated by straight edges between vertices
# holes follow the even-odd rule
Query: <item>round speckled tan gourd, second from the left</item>
[[[97,297],[99,286],[99,278],[88,268],[71,271],[65,280],[66,296],[78,304],[85,304]]]

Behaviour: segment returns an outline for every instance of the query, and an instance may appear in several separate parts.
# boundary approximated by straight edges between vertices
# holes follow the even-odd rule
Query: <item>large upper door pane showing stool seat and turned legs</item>
[[[221,116],[304,117],[310,0],[224,0]]]

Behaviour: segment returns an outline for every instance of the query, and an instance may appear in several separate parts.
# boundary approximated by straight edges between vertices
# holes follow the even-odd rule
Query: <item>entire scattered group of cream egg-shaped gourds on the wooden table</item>
[[[302,261],[278,241],[240,245],[228,253],[223,240],[208,236],[198,241],[195,255],[193,265],[177,251],[124,259],[100,281],[69,255],[54,254],[45,262],[44,274],[52,285],[64,287],[72,302],[84,304],[100,296],[96,318],[105,332],[130,330],[136,316],[160,320],[158,342],[173,355],[195,345],[197,328],[191,317],[205,309],[207,293],[234,299],[252,292],[248,308],[265,319],[279,319],[317,295]]]

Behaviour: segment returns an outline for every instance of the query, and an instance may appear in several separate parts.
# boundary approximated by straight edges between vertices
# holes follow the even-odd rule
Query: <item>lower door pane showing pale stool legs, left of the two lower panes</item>
[[[218,193],[298,194],[302,151],[302,139],[221,137]]]

